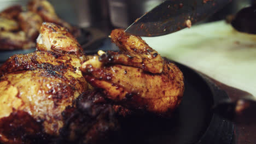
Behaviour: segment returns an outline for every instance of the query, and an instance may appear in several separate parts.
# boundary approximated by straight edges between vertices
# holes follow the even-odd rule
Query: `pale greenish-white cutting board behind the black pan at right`
[[[218,21],[143,39],[161,56],[256,97],[256,35]]]

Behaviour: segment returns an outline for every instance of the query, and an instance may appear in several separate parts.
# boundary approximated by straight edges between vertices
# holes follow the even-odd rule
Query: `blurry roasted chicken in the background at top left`
[[[48,1],[30,1],[27,9],[22,11],[20,5],[14,5],[0,13],[0,50],[33,48],[43,22],[65,26],[78,37],[78,29],[61,20]]]

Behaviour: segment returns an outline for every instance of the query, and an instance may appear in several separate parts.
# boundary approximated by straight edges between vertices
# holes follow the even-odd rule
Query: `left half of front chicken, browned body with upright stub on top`
[[[53,31],[52,26],[51,23],[44,23],[42,27],[44,31],[67,40],[73,39],[68,32],[63,33],[64,35],[57,33],[63,28]],[[62,39],[62,44],[65,44],[65,40]],[[40,42],[40,50],[26,55],[14,55],[0,67],[2,143],[33,143],[35,137],[46,139],[45,135],[59,135],[59,130],[65,124],[61,113],[89,89],[79,70],[86,57],[79,53],[81,49],[76,40],[73,43],[78,44],[77,47],[66,51],[67,45],[59,45],[58,52],[43,49],[49,43],[54,45],[51,44],[52,41]]]

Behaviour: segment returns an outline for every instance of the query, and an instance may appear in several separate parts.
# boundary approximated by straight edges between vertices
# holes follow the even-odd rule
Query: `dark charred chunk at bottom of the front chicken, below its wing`
[[[104,143],[120,129],[119,113],[99,89],[85,92],[75,101],[75,108],[63,112],[65,127],[60,130],[60,143]]]

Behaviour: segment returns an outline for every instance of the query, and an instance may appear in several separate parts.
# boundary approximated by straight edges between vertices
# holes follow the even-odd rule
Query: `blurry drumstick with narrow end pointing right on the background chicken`
[[[39,14],[45,22],[56,23],[57,25],[66,27],[71,33],[74,28],[69,23],[61,20],[55,13],[53,5],[46,0],[32,0],[28,3],[28,10]]]

